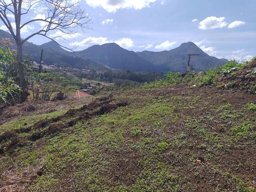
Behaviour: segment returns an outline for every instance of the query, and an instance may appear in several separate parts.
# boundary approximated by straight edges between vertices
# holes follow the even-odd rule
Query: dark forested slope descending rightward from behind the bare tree
[[[10,38],[14,44],[13,48],[16,48],[15,41],[11,34],[0,30],[0,39]],[[28,54],[30,57],[34,58],[34,61],[39,62],[41,56],[41,50],[44,47],[38,46],[36,44],[25,42],[23,45],[23,55]],[[60,49],[59,49],[60,50]],[[102,64],[98,64],[89,59],[82,59],[71,56],[68,51],[61,48],[61,52],[52,48],[44,48],[43,61],[46,64],[57,64],[59,66],[75,67],[75,68],[88,68],[88,69],[108,69]],[[65,53],[66,52],[66,53]]]

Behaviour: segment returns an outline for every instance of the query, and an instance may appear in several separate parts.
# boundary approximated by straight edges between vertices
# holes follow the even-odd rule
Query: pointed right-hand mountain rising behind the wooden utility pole
[[[181,69],[176,70],[178,72],[186,71],[186,66],[188,64],[187,54],[200,54],[200,56],[192,56],[190,60],[190,64],[198,69],[197,71],[204,71],[214,66],[220,66],[228,61],[226,59],[218,59],[209,56],[193,42],[182,43],[178,48],[170,51],[143,51],[137,52],[137,54],[141,58],[148,60],[157,66],[168,66],[169,68],[181,67]]]

